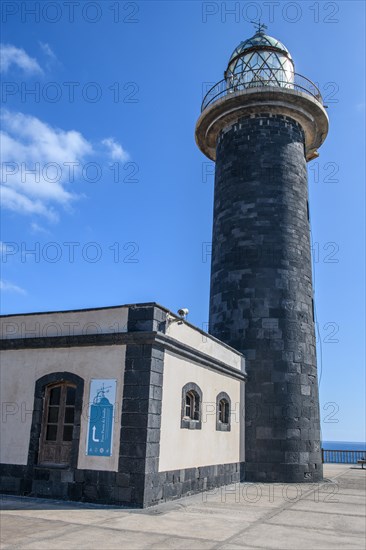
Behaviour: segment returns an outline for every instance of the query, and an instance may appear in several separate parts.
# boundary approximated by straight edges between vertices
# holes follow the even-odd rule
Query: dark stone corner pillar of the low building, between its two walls
[[[157,307],[130,308],[129,331],[158,330],[166,314]],[[118,471],[125,482],[124,504],[149,505],[155,492],[147,476],[159,467],[164,348],[130,344],[126,348]]]

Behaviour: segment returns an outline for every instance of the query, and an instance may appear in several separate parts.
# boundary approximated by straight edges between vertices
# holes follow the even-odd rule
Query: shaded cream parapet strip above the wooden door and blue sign
[[[0,318],[1,338],[40,338],[127,332],[128,307],[10,315]]]

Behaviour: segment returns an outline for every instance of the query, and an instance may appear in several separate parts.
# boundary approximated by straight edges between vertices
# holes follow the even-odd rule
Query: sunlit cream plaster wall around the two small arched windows
[[[202,429],[180,427],[182,388],[195,382],[202,390]],[[244,383],[165,353],[159,471],[225,464],[244,460],[242,444]],[[216,396],[231,399],[231,431],[216,431]],[[243,407],[242,403],[242,408]]]

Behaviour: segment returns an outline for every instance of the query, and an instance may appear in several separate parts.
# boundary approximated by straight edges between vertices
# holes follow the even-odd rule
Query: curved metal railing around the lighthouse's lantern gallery
[[[237,92],[242,92],[247,89],[252,90],[263,87],[284,88],[287,90],[305,92],[314,97],[323,105],[323,99],[319,88],[317,88],[311,80],[301,74],[293,73],[294,81],[289,82],[288,80],[283,80],[283,75],[284,71],[280,71],[276,74],[276,71],[273,70],[271,76],[269,78],[265,78],[263,76],[256,75],[253,71],[243,71],[240,74],[234,75],[234,77],[224,78],[212,86],[212,88],[210,88],[207,92],[202,101],[201,112],[222,97],[235,94]]]

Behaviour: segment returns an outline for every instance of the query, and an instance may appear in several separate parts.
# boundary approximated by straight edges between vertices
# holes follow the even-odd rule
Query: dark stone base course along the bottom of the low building
[[[144,495],[136,492],[132,472],[70,470],[36,467],[29,477],[26,466],[0,464],[3,494],[74,500],[144,508],[244,481],[242,462],[141,474]]]

